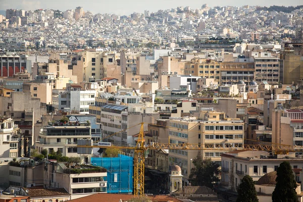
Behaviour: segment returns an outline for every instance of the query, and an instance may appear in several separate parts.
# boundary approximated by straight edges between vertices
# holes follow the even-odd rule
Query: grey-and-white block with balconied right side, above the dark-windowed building
[[[88,114],[89,105],[95,104],[95,96],[96,89],[86,89],[86,85],[67,84],[66,89],[53,89],[53,108]]]

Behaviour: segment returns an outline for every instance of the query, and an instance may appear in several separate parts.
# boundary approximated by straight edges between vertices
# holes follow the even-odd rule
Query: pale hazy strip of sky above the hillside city
[[[197,0],[155,0],[155,1],[146,1],[146,0],[117,0],[117,1],[99,1],[99,0],[89,0],[83,2],[80,0],[53,0],[53,1],[44,1],[44,0],[1,0],[0,10],[5,9],[24,9],[24,10],[36,10],[36,9],[54,9],[54,10],[68,10],[73,6],[81,6],[86,11],[90,11],[93,14],[97,13],[113,13],[118,15],[129,15],[133,12],[143,12],[144,10],[149,10],[151,12],[156,12],[158,10],[166,10],[172,8],[172,6],[189,6],[192,9],[200,8],[203,4],[208,4],[210,7],[214,6],[237,6],[241,7],[246,4],[250,6],[297,6],[302,4],[300,0],[290,0],[290,1],[262,1],[256,0],[254,2],[243,2],[241,0],[231,0],[231,1],[197,1]]]

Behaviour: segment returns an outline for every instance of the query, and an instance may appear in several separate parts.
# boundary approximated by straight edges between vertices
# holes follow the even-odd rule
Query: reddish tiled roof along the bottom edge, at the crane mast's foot
[[[131,194],[118,194],[118,193],[96,193],[92,194],[89,196],[69,200],[71,202],[87,202],[87,201],[94,201],[94,202],[119,202],[120,199],[122,201],[127,201],[131,198],[133,198],[134,195]],[[148,196],[151,200],[157,201],[157,202],[168,202],[168,201],[173,201],[173,202],[182,202],[179,199],[176,199],[171,196],[167,195],[153,195],[153,196]]]

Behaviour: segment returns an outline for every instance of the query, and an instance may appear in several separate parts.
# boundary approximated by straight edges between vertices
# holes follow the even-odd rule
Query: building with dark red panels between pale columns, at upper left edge
[[[0,76],[13,77],[18,72],[25,72],[31,69],[31,61],[27,60],[26,55],[0,55]]]

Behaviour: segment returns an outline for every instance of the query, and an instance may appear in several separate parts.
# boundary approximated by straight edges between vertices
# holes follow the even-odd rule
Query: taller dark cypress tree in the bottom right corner
[[[277,170],[276,187],[272,195],[273,202],[297,202],[295,191],[296,181],[294,179],[289,162],[280,164]]]

